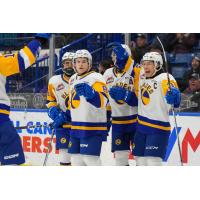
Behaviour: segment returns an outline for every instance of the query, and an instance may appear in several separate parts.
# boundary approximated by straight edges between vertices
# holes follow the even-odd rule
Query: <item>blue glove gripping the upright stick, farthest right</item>
[[[165,96],[167,103],[174,105],[175,108],[178,108],[181,103],[181,93],[179,89],[172,87],[170,91],[167,92]]]

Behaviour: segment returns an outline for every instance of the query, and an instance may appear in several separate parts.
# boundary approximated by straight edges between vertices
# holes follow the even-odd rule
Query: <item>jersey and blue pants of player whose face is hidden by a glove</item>
[[[134,80],[134,66],[135,62],[129,56],[123,71],[116,67],[107,69],[103,76],[108,90],[117,86],[134,93],[137,85]],[[137,106],[133,101],[128,104],[111,96],[109,102],[112,116],[112,152],[130,150],[136,130]]]

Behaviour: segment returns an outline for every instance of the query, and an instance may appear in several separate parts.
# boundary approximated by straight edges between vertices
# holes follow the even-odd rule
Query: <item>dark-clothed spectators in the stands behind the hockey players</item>
[[[194,52],[194,48],[198,47],[199,34],[194,33],[170,33],[157,34],[163,41],[163,45],[167,53],[185,54],[193,53],[192,60],[181,79],[178,79],[180,90],[182,92],[181,110],[183,111],[200,111],[200,54]],[[149,44],[147,34],[139,33],[135,40],[131,41],[130,48],[132,57],[137,63],[140,63],[143,55],[149,51],[156,51],[162,54],[162,49],[156,37]],[[99,72],[104,71],[113,66],[111,60],[103,60],[99,64]],[[181,66],[181,65],[180,65]],[[169,65],[169,72],[172,73],[172,67]],[[172,73],[173,74],[173,73]]]

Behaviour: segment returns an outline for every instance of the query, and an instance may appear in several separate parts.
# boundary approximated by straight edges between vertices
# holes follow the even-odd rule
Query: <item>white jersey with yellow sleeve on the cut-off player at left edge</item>
[[[7,120],[10,114],[10,100],[5,89],[6,77],[30,67],[35,62],[39,49],[40,43],[33,41],[30,47],[25,46],[15,54],[0,55],[0,121]]]

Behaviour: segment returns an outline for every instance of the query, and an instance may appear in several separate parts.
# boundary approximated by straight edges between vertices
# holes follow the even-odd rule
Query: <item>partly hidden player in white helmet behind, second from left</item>
[[[68,154],[70,124],[66,124],[66,110],[68,108],[69,78],[74,74],[74,53],[66,52],[62,57],[63,74],[51,77],[48,84],[47,107],[48,115],[54,121],[56,129],[56,149],[59,149],[60,165],[70,165]]]

